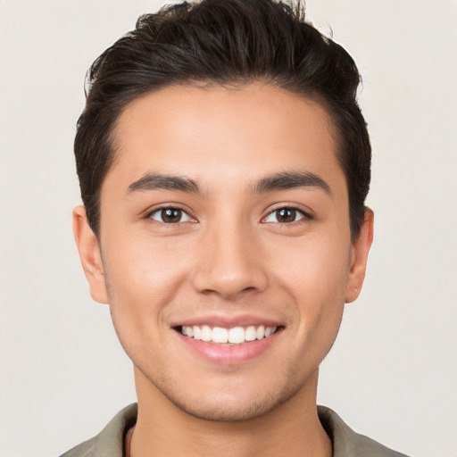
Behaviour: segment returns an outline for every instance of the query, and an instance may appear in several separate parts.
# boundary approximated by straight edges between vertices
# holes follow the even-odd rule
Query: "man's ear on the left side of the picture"
[[[108,303],[100,246],[89,226],[84,206],[77,206],[73,210],[73,234],[78,246],[79,259],[89,283],[90,295],[98,303]]]

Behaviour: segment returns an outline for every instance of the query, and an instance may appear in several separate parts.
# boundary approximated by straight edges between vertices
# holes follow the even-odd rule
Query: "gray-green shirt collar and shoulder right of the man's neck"
[[[318,413],[322,427],[332,440],[333,457],[407,457],[354,432],[335,411],[325,406],[319,406]]]

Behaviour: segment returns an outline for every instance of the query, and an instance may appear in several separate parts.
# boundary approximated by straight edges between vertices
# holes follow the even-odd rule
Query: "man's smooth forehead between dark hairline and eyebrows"
[[[153,171],[211,185],[291,169],[342,174],[333,131],[320,104],[268,84],[167,87],[121,113],[107,179]]]

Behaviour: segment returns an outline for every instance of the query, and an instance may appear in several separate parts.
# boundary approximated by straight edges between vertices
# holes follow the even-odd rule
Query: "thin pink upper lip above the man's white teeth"
[[[170,324],[170,327],[192,327],[192,326],[207,325],[210,327],[234,328],[234,327],[280,327],[284,324],[277,319],[265,318],[263,316],[255,316],[251,314],[240,315],[223,315],[223,314],[208,314],[195,317],[175,320]]]

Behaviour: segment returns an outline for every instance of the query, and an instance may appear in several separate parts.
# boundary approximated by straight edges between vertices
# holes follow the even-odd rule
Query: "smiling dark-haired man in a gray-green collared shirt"
[[[359,79],[272,0],[170,6],[96,60],[73,227],[137,405],[65,456],[401,455],[316,405],[372,240]]]

